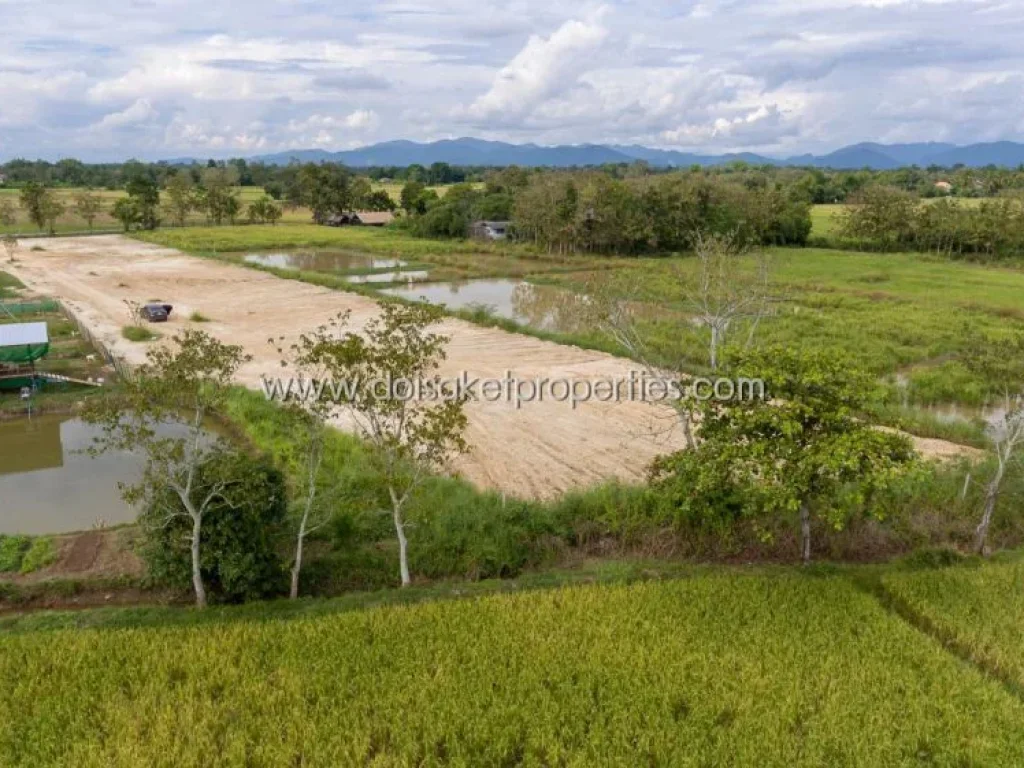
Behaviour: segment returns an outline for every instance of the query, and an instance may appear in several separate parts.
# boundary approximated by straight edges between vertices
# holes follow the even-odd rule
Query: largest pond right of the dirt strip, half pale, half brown
[[[382,294],[443,304],[451,309],[482,309],[541,331],[571,333],[587,323],[587,297],[521,280],[470,280],[385,288]]]

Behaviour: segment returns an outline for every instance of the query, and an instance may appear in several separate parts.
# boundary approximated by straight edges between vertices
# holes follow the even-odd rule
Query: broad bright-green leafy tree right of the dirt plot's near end
[[[842,528],[915,466],[905,435],[859,418],[876,385],[835,352],[773,347],[733,361],[766,396],[708,400],[697,447],[658,459],[655,488],[681,517],[709,521],[796,518],[811,559],[815,519]]]

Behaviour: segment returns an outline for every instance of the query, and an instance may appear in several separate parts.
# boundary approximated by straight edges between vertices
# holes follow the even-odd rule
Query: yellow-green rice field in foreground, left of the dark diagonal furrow
[[[0,635],[0,722],[12,768],[1024,762],[1020,699],[792,572]]]

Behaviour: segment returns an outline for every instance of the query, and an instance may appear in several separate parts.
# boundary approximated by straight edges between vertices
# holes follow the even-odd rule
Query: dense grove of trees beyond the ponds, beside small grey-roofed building
[[[401,205],[417,234],[462,238],[475,220],[510,220],[517,239],[559,253],[683,251],[701,232],[803,245],[811,230],[810,207],[799,197],[706,174],[616,179],[510,168],[489,174],[482,187],[456,184],[443,197],[409,182]]]

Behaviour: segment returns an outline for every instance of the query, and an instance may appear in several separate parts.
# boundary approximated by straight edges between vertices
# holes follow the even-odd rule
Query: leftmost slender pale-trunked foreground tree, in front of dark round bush
[[[85,416],[102,428],[93,453],[133,451],[144,459],[141,479],[122,487],[125,500],[160,510],[168,524],[184,518],[193,589],[202,608],[207,604],[203,524],[213,510],[229,506],[229,493],[248,481],[244,472],[214,471],[244,464],[233,456],[238,449],[205,425],[223,413],[227,386],[250,356],[194,329],[171,341],[146,352],[146,364],[124,382],[120,397],[94,398]],[[183,433],[162,430],[178,420],[184,421]]]

